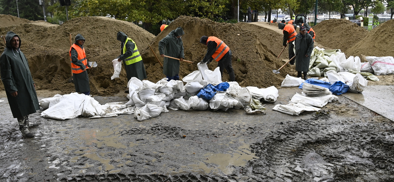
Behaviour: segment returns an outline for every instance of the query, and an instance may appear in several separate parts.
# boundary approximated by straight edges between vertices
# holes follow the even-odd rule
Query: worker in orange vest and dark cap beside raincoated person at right
[[[289,59],[292,59],[296,54],[294,53],[294,40],[296,40],[297,32],[294,29],[293,24],[279,23],[278,28],[283,30],[283,46],[286,47],[289,44]],[[286,43],[287,42],[287,43]],[[294,65],[294,59],[290,61],[290,64]]]

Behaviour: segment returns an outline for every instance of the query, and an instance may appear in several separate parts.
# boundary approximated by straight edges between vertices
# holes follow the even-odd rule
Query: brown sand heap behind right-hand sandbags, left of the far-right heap
[[[316,42],[331,49],[340,49],[345,54],[347,49],[353,47],[368,34],[368,30],[345,19],[322,21],[314,26],[313,30],[316,32]]]

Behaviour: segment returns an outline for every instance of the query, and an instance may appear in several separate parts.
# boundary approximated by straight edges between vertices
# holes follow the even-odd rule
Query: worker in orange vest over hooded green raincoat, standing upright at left
[[[89,77],[86,69],[89,69],[91,66],[86,60],[85,48],[83,48],[84,43],[85,38],[78,33],[77,36],[75,36],[75,43],[72,44],[69,53],[75,91],[89,95]]]

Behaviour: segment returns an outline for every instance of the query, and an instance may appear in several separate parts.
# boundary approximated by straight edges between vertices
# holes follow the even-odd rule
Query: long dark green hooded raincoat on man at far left
[[[0,74],[12,116],[14,118],[22,118],[35,113],[40,107],[28,61],[19,49],[21,47],[21,39],[19,38],[17,51],[11,47],[10,40],[14,36],[19,38],[12,31],[9,31],[5,36],[6,48],[0,57]],[[13,97],[11,93],[15,91],[18,91],[18,95]]]

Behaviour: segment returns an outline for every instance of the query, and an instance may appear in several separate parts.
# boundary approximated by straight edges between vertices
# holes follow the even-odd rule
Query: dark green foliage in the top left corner
[[[18,0],[18,8],[16,0],[0,0],[1,14],[8,14],[12,16],[18,16],[28,20],[44,20],[41,6],[36,0]]]

